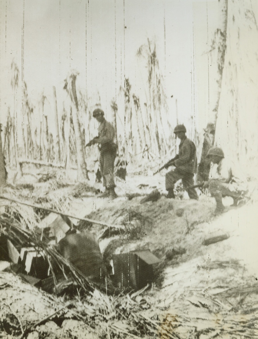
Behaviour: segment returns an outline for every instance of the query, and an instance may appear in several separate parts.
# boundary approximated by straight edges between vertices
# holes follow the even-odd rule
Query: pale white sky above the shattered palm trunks
[[[12,60],[16,61],[20,80],[23,75],[29,98],[35,105],[43,89],[52,105],[52,86],[56,86],[59,110],[62,109],[66,98],[63,80],[70,68],[80,73],[78,88],[85,90],[87,85],[89,96],[99,91],[107,113],[111,99],[119,95],[124,77],[129,77],[132,93],[139,96],[143,104],[147,75],[145,69],[138,66],[136,52],[149,38],[156,42],[171,114],[175,114],[177,99],[178,115],[181,122],[186,123],[187,117],[196,114],[198,109],[192,96],[193,3],[197,34],[194,43],[202,51],[208,41],[207,33],[203,34],[207,30],[207,10],[217,1],[0,0],[1,116],[5,116],[7,107],[13,104]],[[216,26],[210,16],[211,31],[214,24]]]

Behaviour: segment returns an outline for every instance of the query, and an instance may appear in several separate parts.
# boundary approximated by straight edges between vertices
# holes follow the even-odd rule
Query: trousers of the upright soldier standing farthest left
[[[114,162],[115,151],[100,151],[100,173],[103,178],[103,186],[106,188],[115,187],[114,182]]]

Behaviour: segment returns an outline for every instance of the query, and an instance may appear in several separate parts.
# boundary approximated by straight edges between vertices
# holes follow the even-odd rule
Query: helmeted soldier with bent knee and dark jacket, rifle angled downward
[[[173,165],[176,168],[166,174],[166,190],[168,191],[167,198],[175,198],[174,184],[182,179],[182,184],[187,191],[190,199],[198,200],[198,194],[194,188],[189,188],[194,184],[194,173],[197,172],[197,157],[195,144],[186,137],[186,127],[177,125],[174,129],[176,137],[181,142],[179,145],[178,155],[174,158],[169,166]]]

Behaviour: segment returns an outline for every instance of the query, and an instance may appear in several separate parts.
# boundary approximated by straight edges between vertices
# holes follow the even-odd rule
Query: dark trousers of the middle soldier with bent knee
[[[175,168],[172,171],[166,173],[166,179],[165,179],[165,186],[166,190],[170,190],[174,188],[174,184],[182,179],[182,184],[184,189],[187,191],[190,199],[198,200],[198,194],[195,191],[194,188],[189,188],[189,186],[192,186],[194,184],[193,180],[193,173],[188,173],[185,171],[180,171],[180,169]]]

